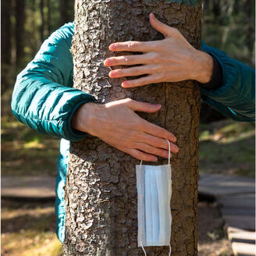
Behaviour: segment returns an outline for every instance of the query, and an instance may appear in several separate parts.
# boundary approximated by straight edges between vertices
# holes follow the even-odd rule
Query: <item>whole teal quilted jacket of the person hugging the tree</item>
[[[80,105],[95,101],[90,94],[73,89],[73,59],[69,51],[73,33],[74,23],[66,23],[48,37],[34,59],[17,76],[12,94],[12,112],[16,119],[40,133],[62,138],[55,189],[56,233],[62,242],[65,222],[63,187],[69,141],[86,137],[86,133],[72,130],[71,119]],[[254,121],[254,69],[205,44],[202,50],[219,61],[223,83],[222,87],[213,90],[201,87],[201,98],[231,119]]]

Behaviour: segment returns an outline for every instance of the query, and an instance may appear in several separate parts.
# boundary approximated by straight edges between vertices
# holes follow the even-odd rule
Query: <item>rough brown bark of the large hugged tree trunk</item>
[[[103,61],[112,55],[108,45],[114,41],[162,39],[150,26],[150,12],[199,48],[200,2],[77,0],[75,12],[74,87],[93,94],[99,103],[133,98],[162,104],[158,113],[139,115],[177,137],[180,152],[171,160],[172,256],[197,255],[198,87],[194,81],[184,81],[123,89],[123,79],[109,79]],[[139,163],[95,137],[71,144],[64,255],[144,255],[137,247],[135,165]],[[166,159],[157,163],[162,164]],[[168,255],[169,247],[146,250],[149,255]]]

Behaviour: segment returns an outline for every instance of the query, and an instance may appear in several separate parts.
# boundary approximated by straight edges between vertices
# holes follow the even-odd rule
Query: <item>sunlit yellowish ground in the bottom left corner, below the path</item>
[[[52,203],[2,201],[2,250],[5,256],[60,256]]]

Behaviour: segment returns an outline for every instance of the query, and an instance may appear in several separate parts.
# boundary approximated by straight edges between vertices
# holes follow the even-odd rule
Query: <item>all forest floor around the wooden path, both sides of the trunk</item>
[[[5,99],[3,99],[5,101]],[[59,140],[27,128],[2,109],[2,175],[56,176]],[[201,124],[199,172],[255,175],[253,123],[226,119]],[[215,204],[199,203],[199,256],[231,256],[223,219]],[[59,256],[54,202],[2,200],[2,255]]]

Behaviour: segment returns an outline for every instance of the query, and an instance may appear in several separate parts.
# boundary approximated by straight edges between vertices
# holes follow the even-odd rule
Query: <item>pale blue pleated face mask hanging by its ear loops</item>
[[[136,165],[138,247],[170,247],[172,172],[168,165]],[[146,255],[146,252],[144,251]],[[171,255],[171,247],[169,251]]]

